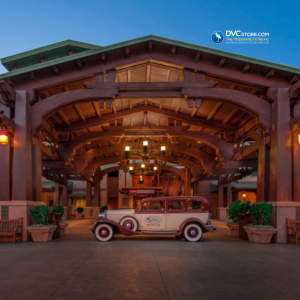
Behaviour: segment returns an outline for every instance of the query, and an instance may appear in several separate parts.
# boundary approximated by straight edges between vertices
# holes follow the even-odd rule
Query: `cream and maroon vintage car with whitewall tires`
[[[141,201],[139,210],[106,210],[91,232],[101,242],[114,234],[175,235],[197,242],[214,230],[208,221],[208,201],[202,197],[157,197]]]

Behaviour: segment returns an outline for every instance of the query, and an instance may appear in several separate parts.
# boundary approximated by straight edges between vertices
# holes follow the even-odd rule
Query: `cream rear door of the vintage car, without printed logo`
[[[182,200],[166,201],[166,231],[178,230],[186,219],[186,205]]]

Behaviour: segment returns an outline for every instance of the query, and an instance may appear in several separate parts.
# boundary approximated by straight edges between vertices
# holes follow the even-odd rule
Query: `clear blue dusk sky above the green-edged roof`
[[[66,39],[106,46],[154,34],[300,68],[299,1],[28,0],[0,11],[1,58]],[[269,32],[270,43],[211,40],[226,30]]]

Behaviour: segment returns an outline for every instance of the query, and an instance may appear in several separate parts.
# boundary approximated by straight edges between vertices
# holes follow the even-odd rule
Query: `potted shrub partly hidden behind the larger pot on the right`
[[[239,237],[239,214],[245,214],[250,208],[250,201],[237,200],[231,203],[227,210],[228,218],[231,220],[227,225],[233,237]]]

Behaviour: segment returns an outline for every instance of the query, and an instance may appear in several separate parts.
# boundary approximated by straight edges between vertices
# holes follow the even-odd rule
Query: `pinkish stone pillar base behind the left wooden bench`
[[[12,220],[23,218],[23,241],[28,241],[27,226],[33,223],[33,218],[29,211],[30,208],[39,205],[46,205],[44,202],[26,201],[26,200],[13,200],[13,201],[0,201],[0,220],[1,216],[8,212],[5,220]],[[5,211],[5,213],[4,213]],[[4,219],[3,219],[4,220]]]

